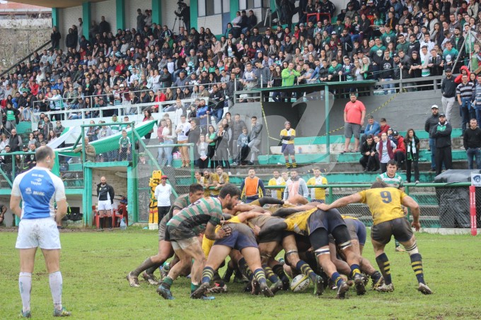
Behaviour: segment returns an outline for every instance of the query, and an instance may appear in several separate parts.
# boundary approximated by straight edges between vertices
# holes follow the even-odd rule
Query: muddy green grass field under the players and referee
[[[254,297],[230,284],[229,292],[214,301],[190,300],[190,285],[180,278],[173,285],[175,300],[159,297],[155,287],[141,281],[130,288],[125,275],[156,253],[156,232],[130,228],[120,232],[62,232],[61,268],[64,306],[75,319],[480,319],[481,250],[479,236],[418,234],[424,272],[434,295],[417,292],[415,275],[406,253],[387,254],[395,291],[369,290],[357,297],[335,300],[335,292],[313,297],[280,292],[276,297]],[[18,319],[18,252],[16,232],[0,232],[0,319]],[[365,256],[374,261],[371,244]],[[221,273],[223,274],[223,273]],[[370,286],[370,284],[369,284]],[[52,297],[40,251],[33,274],[32,313],[35,319],[52,317]]]

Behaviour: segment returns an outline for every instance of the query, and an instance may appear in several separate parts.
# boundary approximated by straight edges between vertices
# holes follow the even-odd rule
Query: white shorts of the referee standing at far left
[[[61,249],[60,234],[53,218],[22,219],[18,225],[16,249]]]

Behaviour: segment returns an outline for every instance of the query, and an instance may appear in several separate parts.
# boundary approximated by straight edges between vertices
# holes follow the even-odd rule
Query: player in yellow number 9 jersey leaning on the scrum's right
[[[402,211],[402,205],[411,209],[411,226],[419,231],[421,227],[419,223],[419,204],[403,191],[388,187],[385,182],[376,181],[371,185],[371,189],[337,199],[330,205],[321,204],[318,207],[322,210],[330,210],[347,206],[349,203],[366,203],[373,215],[371,242],[376,255],[376,262],[381,269],[385,282],[376,290],[379,292],[394,291],[390,275],[390,262],[384,252],[384,247],[394,236],[410,255],[412,270],[415,272],[418,282],[417,290],[424,295],[430,295],[432,291],[424,282],[422,256],[417,249],[416,237]]]

